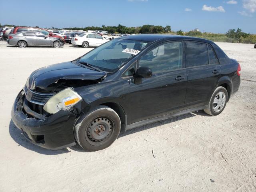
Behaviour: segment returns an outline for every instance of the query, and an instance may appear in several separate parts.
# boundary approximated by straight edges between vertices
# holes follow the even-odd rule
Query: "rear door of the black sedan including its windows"
[[[188,87],[184,109],[207,105],[220,78],[220,64],[210,44],[185,42]]]

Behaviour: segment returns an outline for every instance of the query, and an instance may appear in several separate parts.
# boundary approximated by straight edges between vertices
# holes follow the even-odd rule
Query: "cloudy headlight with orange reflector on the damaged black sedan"
[[[82,97],[71,88],[66,88],[52,96],[44,105],[44,110],[55,114],[60,110],[69,110],[74,104],[82,100]]]

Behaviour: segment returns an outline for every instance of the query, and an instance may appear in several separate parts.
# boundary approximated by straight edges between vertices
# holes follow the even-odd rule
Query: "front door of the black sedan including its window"
[[[182,42],[156,46],[138,60],[140,66],[151,68],[153,75],[132,78],[128,124],[183,110],[187,77]]]

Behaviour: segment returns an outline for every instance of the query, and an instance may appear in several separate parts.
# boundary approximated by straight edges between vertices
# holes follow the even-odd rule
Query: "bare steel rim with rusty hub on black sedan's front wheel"
[[[104,142],[112,135],[114,124],[108,117],[98,117],[92,120],[86,130],[87,138],[92,143]]]

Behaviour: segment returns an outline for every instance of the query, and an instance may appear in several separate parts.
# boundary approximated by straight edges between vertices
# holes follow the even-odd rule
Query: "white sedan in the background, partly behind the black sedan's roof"
[[[109,39],[95,34],[95,33],[83,33],[79,36],[73,37],[71,43],[74,45],[82,46],[87,48],[89,46],[100,46],[103,43],[106,43]]]

